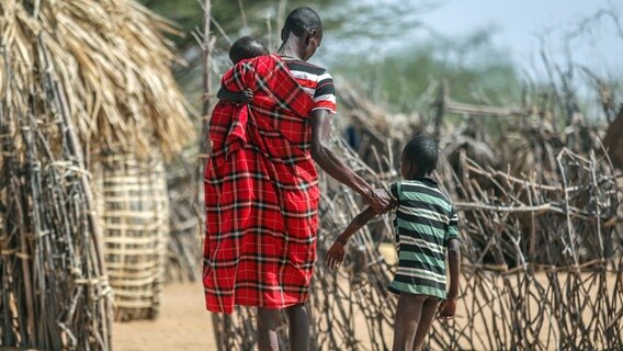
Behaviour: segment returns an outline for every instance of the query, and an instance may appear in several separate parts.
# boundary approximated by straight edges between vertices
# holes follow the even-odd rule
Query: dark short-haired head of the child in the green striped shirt
[[[418,134],[403,149],[400,174],[404,179],[429,176],[437,168],[438,158],[437,141],[428,134]]]

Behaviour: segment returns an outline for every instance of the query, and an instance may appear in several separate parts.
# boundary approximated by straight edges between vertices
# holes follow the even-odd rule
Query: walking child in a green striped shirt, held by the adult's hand
[[[439,150],[428,135],[412,138],[403,150],[400,173],[404,180],[389,189],[396,210],[394,226],[398,246],[398,270],[389,291],[399,294],[394,321],[394,351],[422,348],[432,320],[452,318],[456,310],[461,253],[457,216],[452,202],[430,179]],[[349,238],[376,213],[367,207],[336,239],[327,253],[327,265],[336,269],[344,258]],[[446,292],[445,256],[450,270]]]

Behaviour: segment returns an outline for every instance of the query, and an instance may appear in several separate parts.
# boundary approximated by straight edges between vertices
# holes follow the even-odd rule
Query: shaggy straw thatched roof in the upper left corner
[[[31,83],[41,36],[87,148],[145,155],[158,145],[170,154],[193,140],[169,70],[175,55],[162,32],[172,31],[135,1],[2,0],[0,50],[21,64],[0,65],[0,73]],[[0,81],[0,95],[12,89]]]

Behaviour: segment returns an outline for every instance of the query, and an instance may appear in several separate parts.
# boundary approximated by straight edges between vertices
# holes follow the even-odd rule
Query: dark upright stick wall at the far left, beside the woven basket
[[[88,171],[46,41],[32,39],[34,57],[0,46],[0,347],[109,350]]]

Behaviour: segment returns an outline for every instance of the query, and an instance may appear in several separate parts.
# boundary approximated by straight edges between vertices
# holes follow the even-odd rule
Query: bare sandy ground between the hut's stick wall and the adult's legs
[[[216,350],[201,282],[166,286],[160,316],[155,321],[115,322],[113,350]]]

